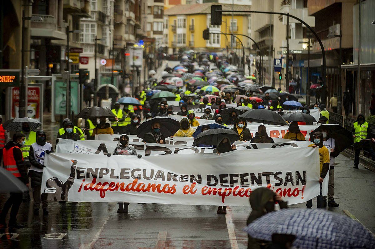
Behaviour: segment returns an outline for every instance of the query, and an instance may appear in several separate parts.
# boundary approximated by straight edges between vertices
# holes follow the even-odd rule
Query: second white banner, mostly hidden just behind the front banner
[[[237,150],[246,149],[265,149],[265,148],[280,148],[280,147],[307,147],[312,142],[309,141],[293,141],[280,139],[282,141],[278,143],[250,143],[250,141],[244,143],[237,141],[235,144]],[[58,153],[72,153],[72,154],[101,154],[107,155],[107,153],[113,153],[117,141],[99,141],[99,140],[78,140],[73,141],[69,139],[59,139],[56,145],[56,152]],[[139,143],[130,142],[136,149],[137,154],[143,156],[150,155],[173,155],[173,154],[198,154],[198,153],[216,153],[216,147],[193,147],[186,145],[163,145],[158,143]]]

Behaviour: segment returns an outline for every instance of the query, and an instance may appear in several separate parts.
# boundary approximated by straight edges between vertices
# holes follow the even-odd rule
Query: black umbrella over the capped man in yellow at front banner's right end
[[[319,125],[314,131],[310,133],[310,137],[312,138],[315,131],[322,131],[326,130],[329,133],[329,136],[337,140],[337,147],[340,152],[344,151],[344,149],[348,148],[350,145],[353,144],[353,134],[351,131],[345,129],[339,124],[323,124]],[[312,140],[312,139],[311,139]]]

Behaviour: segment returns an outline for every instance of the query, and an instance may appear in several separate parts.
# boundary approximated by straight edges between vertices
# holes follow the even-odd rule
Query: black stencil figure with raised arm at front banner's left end
[[[71,173],[69,178],[63,183],[58,177],[51,177],[46,181],[46,187],[41,196],[43,200],[68,201],[69,189],[73,186],[75,179],[75,169],[77,160],[71,160]]]

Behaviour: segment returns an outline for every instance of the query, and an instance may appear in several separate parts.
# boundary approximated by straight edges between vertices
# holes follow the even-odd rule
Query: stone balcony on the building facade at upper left
[[[30,34],[31,37],[44,37],[49,39],[65,40],[66,34],[63,30],[59,31],[57,20],[51,15],[35,15],[41,17],[42,21],[31,21]]]

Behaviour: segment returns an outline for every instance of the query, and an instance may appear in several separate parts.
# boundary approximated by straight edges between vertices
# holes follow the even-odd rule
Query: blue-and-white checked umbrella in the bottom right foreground
[[[282,209],[261,216],[244,230],[266,241],[274,233],[292,234],[296,248],[375,248],[374,235],[360,222],[324,209]]]

